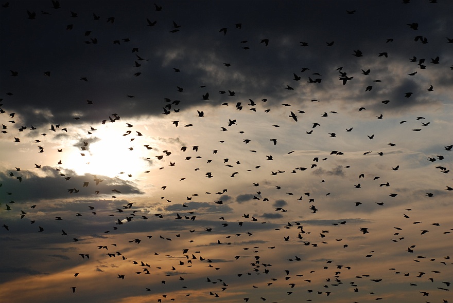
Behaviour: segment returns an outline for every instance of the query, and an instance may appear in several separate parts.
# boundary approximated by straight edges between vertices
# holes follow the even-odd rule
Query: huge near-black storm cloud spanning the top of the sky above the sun
[[[19,77],[1,75],[4,86],[13,92],[13,96],[5,98],[6,108],[15,110],[18,109],[16,104],[20,104],[24,123],[39,125],[72,123],[76,116],[99,123],[109,120],[114,112],[125,118],[137,114],[160,115],[164,98],[181,100],[175,108],[185,108],[189,100],[190,105],[205,103],[201,94],[206,91],[211,92],[214,102],[231,100],[217,91],[234,90],[242,98],[269,99],[269,106],[273,106],[280,103],[277,100],[294,95],[295,92],[283,89],[286,85],[299,85],[292,80],[292,72],[302,76],[301,82],[306,82],[311,73],[319,72],[323,82],[315,84],[316,89],[313,86],[308,89],[327,91],[329,80],[326,77],[336,68],[344,67],[357,79],[359,68],[379,52],[406,57],[408,45],[410,48],[415,43],[413,35],[430,32],[430,41],[442,39],[445,42],[441,28],[453,27],[446,17],[447,9],[439,15],[444,3],[436,4],[435,8],[424,3],[403,7],[392,1],[330,4],[330,9],[357,11],[351,15],[325,14],[321,6],[307,9],[303,2],[283,2],[276,6],[274,2],[265,1],[260,2],[259,10],[255,9],[255,2],[219,2],[215,6],[206,1],[173,2],[179,9],[169,8],[160,14],[147,2],[113,3],[66,3],[62,4],[62,10],[52,10],[51,15],[38,15],[36,20],[27,22],[22,22],[24,11],[50,10],[48,3],[22,1],[11,5],[3,17],[8,28],[14,29],[5,32],[5,41],[13,43],[4,50],[2,57],[9,61],[3,61],[2,66],[18,70]],[[81,11],[77,18],[70,17],[68,4],[71,10]],[[104,17],[115,15],[115,23],[93,20],[86,6],[90,7],[88,11]],[[208,17],[182,13],[194,8],[196,15]],[[434,9],[439,15],[437,20],[420,17],[420,10]],[[402,15],[405,18],[400,18]],[[242,23],[241,29],[234,28],[233,16],[235,22]],[[158,21],[156,26],[146,26],[147,17]],[[179,32],[169,33],[170,17],[181,24]],[[382,18],[386,21],[382,22]],[[357,27],[358,22],[367,26]],[[419,31],[411,32],[407,27],[406,24],[412,22],[420,23]],[[69,23],[74,26],[72,30],[66,30]],[[226,35],[218,32],[223,27],[228,28]],[[91,34],[84,36],[87,30],[91,30]],[[21,36],[21,40],[14,40],[13,34]],[[403,34],[407,39],[385,43],[386,39]],[[91,39],[97,39],[98,43],[84,43]],[[260,44],[260,39],[269,39],[269,46]],[[116,40],[119,45],[113,44]],[[239,43],[246,40],[245,44]],[[300,46],[299,41],[307,42],[308,46]],[[335,44],[328,47],[326,42],[332,41]],[[423,52],[413,54],[427,60],[442,56],[448,53],[447,43],[444,44],[438,53],[429,51],[428,43]],[[250,49],[244,50],[243,46]],[[138,48],[138,52],[132,53],[132,48]],[[352,56],[355,49],[362,50],[364,58]],[[145,60],[138,60],[136,54]],[[349,59],[344,61],[344,57]],[[135,61],[141,66],[134,67]],[[234,66],[234,77],[231,68],[223,67],[223,63]],[[173,67],[181,72],[174,72]],[[309,73],[302,74],[302,67],[309,67]],[[45,77],[44,71],[51,71],[50,77]],[[135,77],[135,72],[142,74]],[[338,72],[333,74],[336,79]],[[84,77],[88,82],[80,80]],[[200,90],[200,85],[206,87]],[[23,89],[25,86],[28,89]],[[176,86],[183,87],[184,92],[177,92]],[[170,91],[173,93],[168,93]],[[86,100],[93,104],[89,105]],[[402,106],[412,105],[417,103]],[[38,114],[46,111],[49,115]]]

